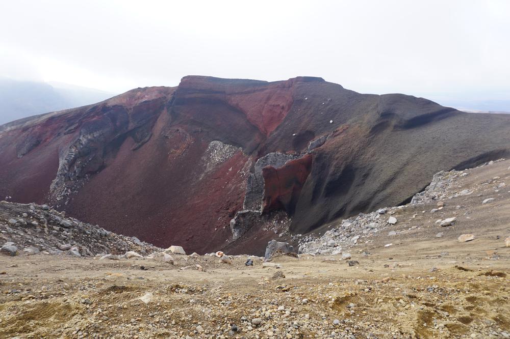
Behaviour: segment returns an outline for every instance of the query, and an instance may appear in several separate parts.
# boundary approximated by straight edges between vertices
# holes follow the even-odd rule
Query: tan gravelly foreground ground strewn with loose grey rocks
[[[508,160],[438,174],[410,204],[331,223],[269,261],[3,203],[0,337],[509,338],[508,185]]]

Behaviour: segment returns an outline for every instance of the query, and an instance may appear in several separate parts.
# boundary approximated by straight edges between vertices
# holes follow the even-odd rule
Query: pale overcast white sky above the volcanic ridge
[[[110,92],[189,74],[510,99],[510,1],[6,1],[0,76]]]

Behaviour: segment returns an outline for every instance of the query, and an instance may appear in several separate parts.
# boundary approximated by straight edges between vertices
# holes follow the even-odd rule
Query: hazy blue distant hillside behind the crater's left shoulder
[[[65,83],[0,78],[0,125],[54,110],[88,105],[114,95]]]

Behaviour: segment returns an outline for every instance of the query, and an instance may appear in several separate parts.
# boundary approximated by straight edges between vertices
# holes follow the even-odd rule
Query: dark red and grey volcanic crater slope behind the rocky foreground
[[[0,196],[162,247],[262,253],[274,232],[395,206],[433,173],[506,156],[509,132],[510,116],[321,78],[187,76],[0,126]]]

